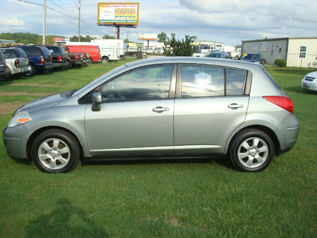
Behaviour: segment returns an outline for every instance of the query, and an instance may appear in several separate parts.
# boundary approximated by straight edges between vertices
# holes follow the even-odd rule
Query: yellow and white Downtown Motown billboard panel
[[[98,2],[97,24],[138,25],[139,2]]]

